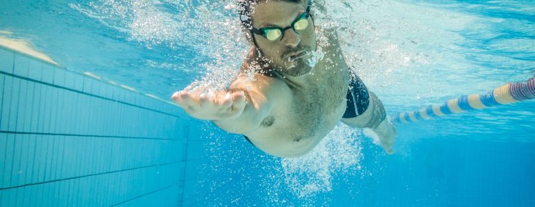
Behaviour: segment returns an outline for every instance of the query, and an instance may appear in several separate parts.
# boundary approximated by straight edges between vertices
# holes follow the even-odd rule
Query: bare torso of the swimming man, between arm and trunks
[[[292,91],[292,106],[272,110],[247,137],[261,150],[281,157],[297,157],[312,150],[340,121],[346,109],[349,71],[338,48],[306,75],[285,77],[274,72]]]

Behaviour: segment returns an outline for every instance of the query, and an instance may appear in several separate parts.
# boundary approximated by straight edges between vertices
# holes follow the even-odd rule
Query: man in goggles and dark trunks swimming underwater
[[[171,98],[191,117],[242,134],[270,155],[306,154],[339,121],[370,128],[392,154],[395,128],[381,101],[350,73],[335,30],[327,31],[323,58],[312,63],[318,46],[310,5],[242,0],[242,28],[252,48],[236,79],[224,91],[188,87]]]

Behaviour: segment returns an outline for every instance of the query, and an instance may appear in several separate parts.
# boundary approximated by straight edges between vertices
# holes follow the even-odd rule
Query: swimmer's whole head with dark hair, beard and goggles
[[[308,52],[316,50],[314,23],[308,12],[310,0],[243,0],[242,25],[263,57],[292,76],[310,70]]]

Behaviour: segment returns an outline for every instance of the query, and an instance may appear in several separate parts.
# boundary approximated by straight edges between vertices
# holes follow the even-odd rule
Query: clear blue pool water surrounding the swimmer
[[[0,5],[0,30],[12,32],[3,37],[26,39],[69,70],[91,71],[164,99],[195,79],[222,75],[223,66],[236,72],[236,52],[245,46],[225,46],[243,37],[223,35],[222,28],[236,22],[219,2]],[[390,114],[535,74],[532,1],[336,1],[331,10],[333,19],[354,29],[339,30],[344,52]],[[231,26],[217,24],[226,21]],[[398,125],[395,155],[355,130],[354,163],[344,168],[336,165],[339,159],[308,160],[303,163],[321,166],[303,172],[288,171],[292,164],[238,135],[192,122],[212,141],[198,148],[205,159],[191,164],[202,169],[191,189],[196,196],[184,204],[535,206],[534,106],[524,101]]]

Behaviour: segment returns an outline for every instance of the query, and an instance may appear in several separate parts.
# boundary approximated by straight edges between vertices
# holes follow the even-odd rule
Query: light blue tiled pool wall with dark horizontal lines
[[[200,155],[188,139],[202,139],[177,106],[3,47],[0,87],[0,206],[182,206],[193,196],[184,187],[196,185]]]

